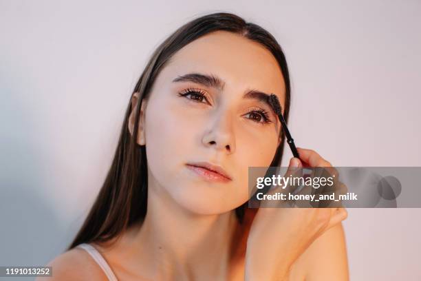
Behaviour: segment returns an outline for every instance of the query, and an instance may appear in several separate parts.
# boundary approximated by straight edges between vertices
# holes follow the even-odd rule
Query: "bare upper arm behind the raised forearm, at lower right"
[[[314,240],[296,261],[294,269],[296,275],[297,272],[301,277],[305,275],[305,280],[348,280],[348,270],[342,222]]]

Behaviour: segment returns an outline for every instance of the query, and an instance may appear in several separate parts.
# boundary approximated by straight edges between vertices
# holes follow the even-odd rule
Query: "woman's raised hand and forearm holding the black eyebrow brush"
[[[337,174],[336,169],[313,150],[298,147],[297,150],[303,162],[291,158],[287,174],[294,173],[294,163],[298,167],[327,167],[330,173]],[[301,253],[345,218],[344,208],[260,208],[248,234],[246,280],[284,280]]]

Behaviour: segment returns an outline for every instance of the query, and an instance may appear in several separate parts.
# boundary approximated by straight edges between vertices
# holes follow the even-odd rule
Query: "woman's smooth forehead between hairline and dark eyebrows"
[[[285,100],[283,76],[272,53],[232,32],[212,32],[189,43],[174,54],[167,68],[173,76],[188,72],[215,74],[232,90],[272,92],[281,103]]]

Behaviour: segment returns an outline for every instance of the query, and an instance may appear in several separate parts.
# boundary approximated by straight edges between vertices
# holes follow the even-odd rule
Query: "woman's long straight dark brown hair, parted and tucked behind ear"
[[[288,122],[288,113],[290,111],[290,76],[281,46],[272,34],[259,25],[248,23],[232,13],[217,12],[198,17],[182,25],[181,28],[175,30],[153,52],[151,59],[149,59],[131,94],[133,96],[134,93],[139,93],[138,103],[134,107],[136,110],[134,128],[138,128],[140,107],[143,99],[147,98],[155,78],[173,54],[195,39],[217,30],[241,34],[241,36],[247,39],[260,43],[277,59],[285,81],[285,108],[283,116],[285,121]],[[141,222],[147,214],[148,174],[146,147],[136,143],[138,129],[133,130],[133,135],[129,132],[130,113],[131,103],[129,102],[114,159],[105,178],[105,182],[83,226],[67,250],[81,243],[107,242],[116,238],[122,231],[133,225],[133,223]],[[275,165],[281,163],[284,140],[285,136],[281,134],[281,143],[277,148],[277,152],[270,166],[273,166],[273,163]],[[235,209],[239,222],[242,222],[244,219],[244,211],[247,208],[247,203]]]

